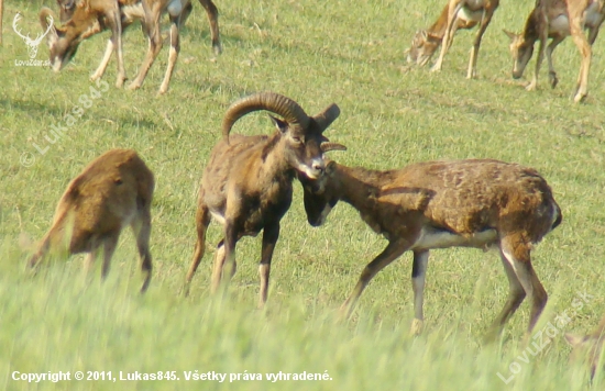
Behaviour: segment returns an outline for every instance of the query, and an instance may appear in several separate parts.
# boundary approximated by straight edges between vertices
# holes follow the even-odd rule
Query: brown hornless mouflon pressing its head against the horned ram
[[[427,161],[386,171],[330,161],[319,180],[302,183],[311,225],[321,225],[342,200],[388,241],[361,273],[342,305],[344,314],[352,312],[378,271],[411,250],[413,333],[419,333],[429,250],[497,246],[510,291],[492,334],[502,331],[526,295],[532,300],[528,333],[536,325],[547,292],[534,271],[530,252],[562,220],[550,187],[536,170],[490,159]]]

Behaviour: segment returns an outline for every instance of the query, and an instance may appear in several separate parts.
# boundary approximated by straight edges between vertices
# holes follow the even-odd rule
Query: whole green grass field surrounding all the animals
[[[466,80],[474,32],[459,32],[443,70],[411,68],[404,49],[428,26],[443,1],[263,0],[222,1],[224,52],[213,57],[206,14],[198,2],[182,32],[182,52],[170,90],[156,98],[167,60],[164,47],[143,88],[113,87],[91,100],[81,118],[54,144],[51,126],[64,126],[95,83],[108,33],[86,41],[74,62],[55,75],[18,67],[28,59],[11,24],[34,36],[37,11],[54,1],[9,0],[0,47],[0,389],[7,390],[584,390],[586,373],[569,365],[562,332],[592,329],[605,311],[605,53],[594,46],[588,98],[573,104],[580,55],[571,40],[556,52],[559,86],[526,92],[513,80],[508,38],[534,2],[503,1],[480,52],[476,80]],[[521,16],[522,15],[522,16]],[[164,20],[165,22],[165,20]],[[146,51],[139,27],[125,34],[132,79]],[[40,45],[37,59],[48,49]],[[534,265],[549,293],[537,331],[575,311],[571,321],[543,335],[536,356],[521,344],[528,304],[512,319],[502,339],[482,342],[504,305],[508,283],[496,253],[432,252],[426,289],[426,328],[408,335],[413,319],[411,256],[383,270],[362,295],[352,320],[337,310],[363,267],[386,245],[349,205],[340,204],[321,228],[306,222],[300,186],[282,224],[273,259],[270,300],[255,309],[260,238],[238,245],[238,273],[229,300],[209,294],[211,256],[221,237],[211,224],[210,250],[191,286],[179,291],[195,243],[197,188],[209,152],[220,137],[227,107],[251,92],[273,90],[316,113],[331,102],[340,118],[327,135],[349,150],[334,159],[369,168],[396,168],[430,159],[496,158],[537,168],[563,211],[563,223],[534,252]],[[86,103],[86,102],[85,102]],[[86,103],[88,105],[88,103]],[[255,113],[233,132],[273,132]],[[42,155],[35,147],[48,147]],[[68,181],[102,152],[136,149],[156,177],[152,208],[154,272],[145,295],[134,241],[122,235],[109,278],[92,282],[82,256],[46,262],[35,276],[25,261],[50,227]],[[29,167],[21,161],[26,158]],[[33,159],[33,160],[32,160]],[[601,201],[600,201],[601,200]],[[592,298],[574,308],[579,292]],[[556,334],[556,335],[554,335]],[[547,343],[547,339],[549,340]],[[550,340],[551,339],[551,340]],[[534,349],[536,350],[536,349]],[[524,356],[525,353],[525,356]],[[517,373],[514,375],[513,371]],[[14,371],[175,371],[176,381],[64,381],[28,383]],[[189,372],[227,373],[218,381],[187,381]],[[328,373],[329,380],[266,380],[267,373]],[[230,381],[240,375],[240,380]],[[251,376],[253,373],[253,376]],[[257,378],[263,380],[244,380]],[[506,383],[501,376],[508,380]],[[510,378],[513,376],[513,378]],[[290,375],[292,379],[293,375]],[[594,389],[604,384],[602,375]]]

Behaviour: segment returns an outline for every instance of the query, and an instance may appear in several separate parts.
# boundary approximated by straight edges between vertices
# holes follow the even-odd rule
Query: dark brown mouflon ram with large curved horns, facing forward
[[[283,118],[272,116],[277,127],[273,135],[229,135],[240,118],[257,110]],[[321,175],[324,168],[321,144],[328,141],[322,134],[339,114],[338,105],[330,104],[319,114],[309,116],[298,103],[273,92],[242,98],[229,108],[222,122],[223,139],[212,149],[201,178],[196,214],[197,243],[185,292],[204,257],[206,231],[215,217],[223,225],[224,237],[215,255],[212,292],[221,283],[224,265],[227,281],[235,272],[238,241],[263,231],[258,304],[266,302],[279,222],[292,203],[292,181],[297,172],[305,172],[310,178]]]

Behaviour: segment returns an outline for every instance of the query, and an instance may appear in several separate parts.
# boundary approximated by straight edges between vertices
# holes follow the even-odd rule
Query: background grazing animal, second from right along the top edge
[[[441,70],[443,58],[452,45],[455,31],[458,29],[472,29],[480,24],[466,72],[466,78],[474,78],[476,76],[476,60],[481,40],[498,4],[499,0],[449,0],[437,22],[428,30],[416,32],[411,41],[411,47],[408,51],[408,63],[416,62],[420,66],[426,65],[441,45],[441,52],[431,71]]]

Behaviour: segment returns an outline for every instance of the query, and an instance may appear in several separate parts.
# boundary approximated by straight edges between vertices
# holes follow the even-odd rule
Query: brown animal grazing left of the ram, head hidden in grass
[[[88,253],[90,267],[103,250],[101,277],[109,271],[111,256],[122,228],[132,227],[145,276],[141,292],[151,280],[150,254],[153,172],[131,149],[111,149],[92,160],[67,186],[53,225],[29,265],[35,267],[50,252]]]

